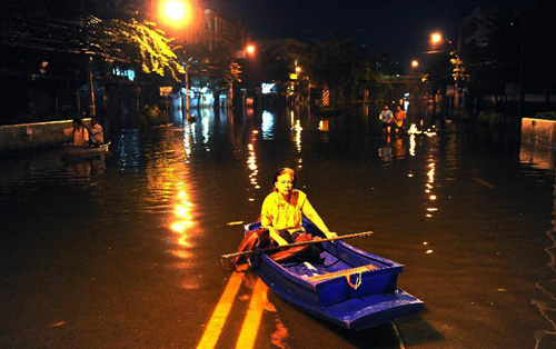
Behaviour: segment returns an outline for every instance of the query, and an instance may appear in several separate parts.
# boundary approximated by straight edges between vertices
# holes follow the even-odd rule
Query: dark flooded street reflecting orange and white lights
[[[380,132],[365,109],[205,110],[102,158],[1,159],[0,347],[555,348],[554,152]],[[375,231],[348,242],[405,265],[420,315],[350,332],[220,267],[281,167],[332,231]]]

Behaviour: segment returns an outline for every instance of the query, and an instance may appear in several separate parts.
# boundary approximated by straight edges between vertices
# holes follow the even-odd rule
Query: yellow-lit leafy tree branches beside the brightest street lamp
[[[170,47],[170,39],[153,23],[119,19],[92,24],[91,46],[108,61],[129,61],[147,73],[175,81],[183,79],[185,70]]]

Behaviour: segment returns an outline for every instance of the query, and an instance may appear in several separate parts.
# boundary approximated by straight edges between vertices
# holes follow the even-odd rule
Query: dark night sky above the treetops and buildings
[[[476,7],[526,4],[532,0],[219,0],[224,12],[241,16],[255,39],[330,34],[367,44],[374,56],[408,62],[425,51],[428,34],[440,30],[457,40],[457,26]]]

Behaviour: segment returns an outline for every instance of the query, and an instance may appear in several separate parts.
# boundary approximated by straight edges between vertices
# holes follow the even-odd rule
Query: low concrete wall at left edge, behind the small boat
[[[83,119],[90,126],[91,119]],[[0,156],[41,147],[54,147],[69,142],[72,137],[63,133],[71,128],[71,120],[10,124],[0,127]]]

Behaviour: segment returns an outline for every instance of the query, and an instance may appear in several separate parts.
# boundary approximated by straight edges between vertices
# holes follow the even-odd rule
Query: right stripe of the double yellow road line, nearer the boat
[[[261,279],[257,279],[255,283],[255,289],[252,291],[252,298],[249,302],[249,309],[247,310],[247,316],[241,326],[241,332],[239,333],[236,348],[238,349],[251,349],[255,347],[255,340],[257,339],[257,333],[259,331],[260,320],[262,319],[262,312],[265,311],[265,302],[267,301],[268,287],[262,282]]]

